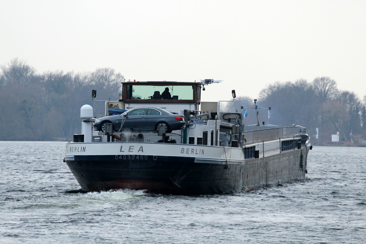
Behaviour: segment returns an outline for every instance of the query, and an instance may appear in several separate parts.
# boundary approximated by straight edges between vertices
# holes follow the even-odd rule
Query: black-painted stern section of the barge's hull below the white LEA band
[[[113,159],[108,159],[113,157]],[[66,160],[81,187],[87,191],[145,189],[162,194],[220,194],[237,189],[239,165],[195,163],[190,157],[146,155],[147,160],[115,160],[115,156],[75,156]]]

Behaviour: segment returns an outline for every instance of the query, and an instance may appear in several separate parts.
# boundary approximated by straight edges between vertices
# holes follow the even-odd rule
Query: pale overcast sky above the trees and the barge
[[[222,79],[203,100],[256,98],[317,76],[366,95],[366,1],[5,1],[0,65],[114,68],[128,79]]]

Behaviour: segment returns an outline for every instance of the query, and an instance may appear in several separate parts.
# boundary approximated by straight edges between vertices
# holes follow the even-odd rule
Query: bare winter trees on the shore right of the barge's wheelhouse
[[[238,97],[233,103],[227,103],[227,109],[254,107],[250,97]],[[353,92],[339,90],[330,77],[269,84],[260,91],[257,106],[265,108],[258,109],[260,124],[306,127],[313,144],[359,146],[365,139],[366,96],[361,100]],[[257,124],[254,109],[247,113],[244,124]],[[339,135],[339,143],[332,143],[332,135]]]

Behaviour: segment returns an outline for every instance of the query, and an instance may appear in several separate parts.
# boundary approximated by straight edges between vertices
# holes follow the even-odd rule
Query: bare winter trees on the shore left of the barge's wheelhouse
[[[97,89],[101,99],[114,99],[123,80],[111,68],[37,74],[19,59],[0,68],[0,140],[72,140],[81,131],[81,106],[92,105],[94,116],[104,111],[104,102],[92,101],[91,90]]]

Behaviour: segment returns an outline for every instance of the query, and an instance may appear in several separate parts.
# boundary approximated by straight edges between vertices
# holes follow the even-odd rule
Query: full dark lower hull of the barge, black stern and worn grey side
[[[155,155],[74,155],[66,164],[86,191],[144,189],[173,195],[223,194],[305,177],[308,149],[239,163]],[[123,158],[124,157],[124,158]]]

